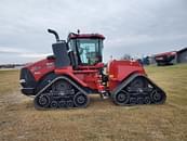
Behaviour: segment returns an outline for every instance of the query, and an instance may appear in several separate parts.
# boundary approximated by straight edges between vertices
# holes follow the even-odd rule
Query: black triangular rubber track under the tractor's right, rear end
[[[162,104],[165,92],[144,75],[134,74],[111,92],[117,105]]]

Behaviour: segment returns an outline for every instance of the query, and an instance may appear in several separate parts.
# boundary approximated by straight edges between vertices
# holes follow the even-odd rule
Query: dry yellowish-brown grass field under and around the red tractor
[[[186,141],[187,65],[146,67],[168,100],[116,106],[91,97],[82,110],[36,111],[18,90],[18,70],[0,70],[0,141]]]

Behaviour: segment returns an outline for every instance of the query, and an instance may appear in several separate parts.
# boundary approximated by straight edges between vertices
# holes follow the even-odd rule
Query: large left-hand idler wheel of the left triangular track
[[[45,108],[51,104],[50,95],[46,93],[36,97],[34,101],[36,108]]]

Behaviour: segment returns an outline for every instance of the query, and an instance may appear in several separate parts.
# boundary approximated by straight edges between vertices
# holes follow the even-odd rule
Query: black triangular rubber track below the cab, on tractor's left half
[[[66,77],[52,81],[34,100],[37,110],[86,107],[90,103],[88,93]]]

